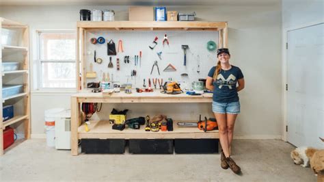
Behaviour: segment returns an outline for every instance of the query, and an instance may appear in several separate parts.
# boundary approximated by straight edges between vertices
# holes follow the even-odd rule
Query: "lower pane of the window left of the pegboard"
[[[42,62],[42,88],[75,87],[75,63]]]

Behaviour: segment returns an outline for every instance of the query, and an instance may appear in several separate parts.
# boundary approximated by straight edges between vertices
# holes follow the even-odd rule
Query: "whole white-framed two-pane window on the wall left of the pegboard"
[[[38,31],[39,88],[76,88],[74,31]]]

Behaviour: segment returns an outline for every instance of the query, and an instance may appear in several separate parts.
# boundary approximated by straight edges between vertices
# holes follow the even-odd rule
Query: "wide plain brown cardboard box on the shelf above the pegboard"
[[[152,6],[129,7],[129,21],[154,21],[154,8]]]

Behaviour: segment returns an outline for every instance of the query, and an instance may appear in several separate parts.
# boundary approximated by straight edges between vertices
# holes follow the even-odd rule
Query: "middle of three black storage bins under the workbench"
[[[129,153],[137,153],[137,154],[173,153],[173,140],[172,139],[159,139],[159,140],[131,139],[129,140]]]

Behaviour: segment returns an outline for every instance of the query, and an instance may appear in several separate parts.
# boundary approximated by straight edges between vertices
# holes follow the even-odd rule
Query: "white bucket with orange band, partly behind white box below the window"
[[[46,144],[47,146],[55,146],[55,118],[57,114],[63,112],[64,108],[55,108],[45,110],[45,126],[46,129]]]

